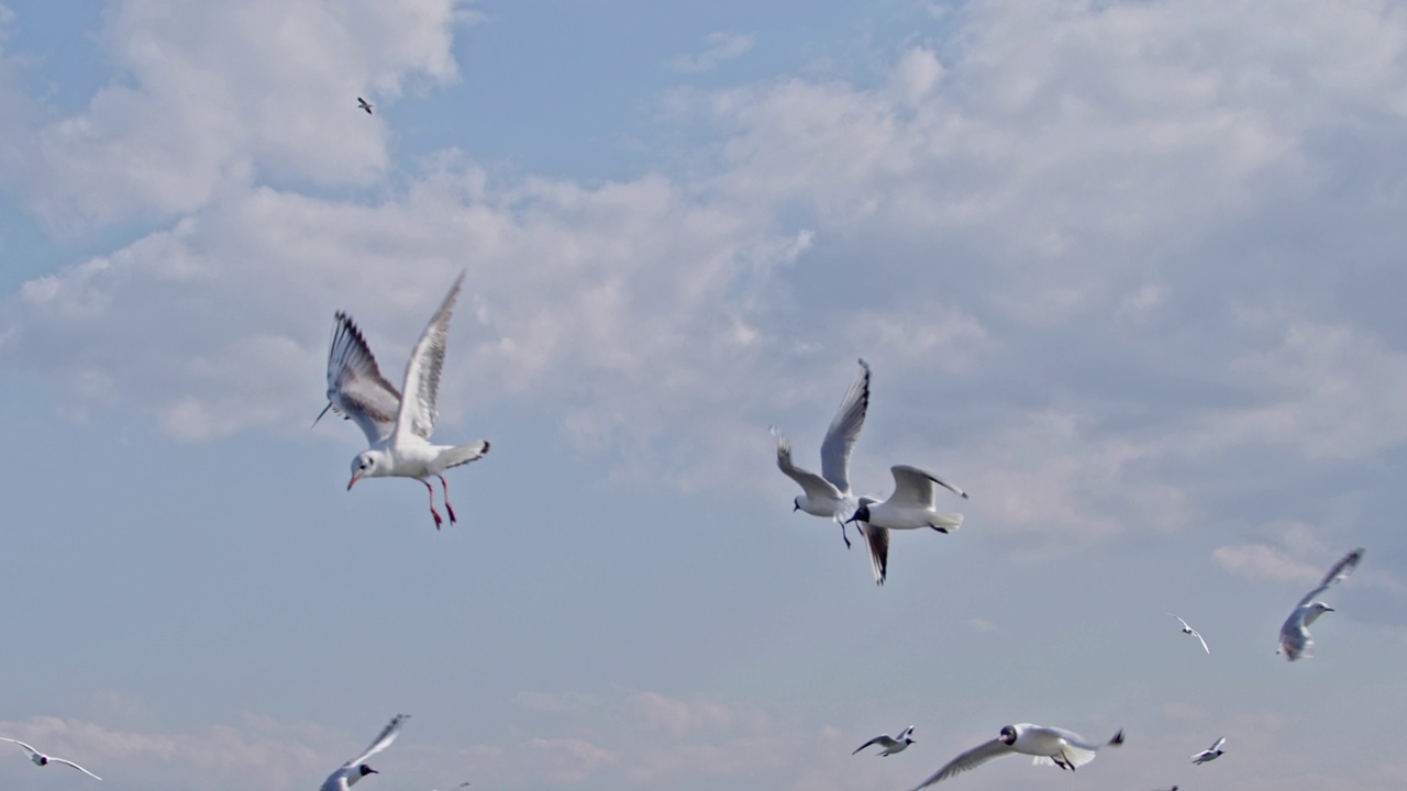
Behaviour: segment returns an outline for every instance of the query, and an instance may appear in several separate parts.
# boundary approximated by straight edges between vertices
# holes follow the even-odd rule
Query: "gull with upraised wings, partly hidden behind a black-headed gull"
[[[792,511],[834,519],[840,525],[840,538],[846,539],[847,549],[850,536],[846,535],[843,519],[846,512],[854,508],[854,497],[850,494],[850,449],[860,438],[860,429],[865,425],[865,411],[870,408],[870,363],[861,359],[860,369],[846,397],[841,398],[830,428],[826,429],[826,439],[820,443],[819,476],[792,464],[791,443],[777,426],[770,429],[777,438],[777,469],[802,488],[802,495],[792,500]]]

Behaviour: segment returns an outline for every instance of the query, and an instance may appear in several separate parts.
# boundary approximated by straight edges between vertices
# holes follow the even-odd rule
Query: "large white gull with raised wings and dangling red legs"
[[[322,408],[314,425],[332,410],[356,421],[370,443],[367,450],[352,460],[352,480],[348,491],[364,477],[398,476],[415,479],[431,491],[431,517],[435,529],[440,529],[439,511],[435,510],[435,487],[431,477],[438,477],[445,488],[445,510],[449,522],[454,524],[454,507],[449,504],[449,483],[442,474],[450,467],[476,462],[488,453],[488,442],[471,445],[431,445],[435,431],[436,397],[439,393],[440,369],[445,365],[445,343],[449,338],[449,319],[459,297],[461,272],[454,279],[449,294],[431,318],[425,334],[411,350],[405,363],[405,397],[381,376],[381,370],[367,348],[362,331],[352,317],[338,311],[332,325],[332,346],[328,350],[328,405]]]

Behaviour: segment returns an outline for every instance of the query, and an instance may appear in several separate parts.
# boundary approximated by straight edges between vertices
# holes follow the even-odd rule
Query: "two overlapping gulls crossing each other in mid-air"
[[[962,514],[943,514],[936,508],[937,490],[941,486],[967,498],[967,493],[951,486],[930,472],[896,464],[889,467],[893,476],[893,494],[879,501],[872,497],[855,497],[850,490],[850,452],[864,428],[870,410],[870,363],[860,360],[860,373],[840,401],[836,417],[826,429],[820,443],[820,474],[798,467],[792,462],[791,443],[777,429],[777,467],[801,484],[802,494],[792,500],[792,511],[805,511],[813,517],[825,517],[840,524],[840,536],[850,546],[846,525],[861,522],[860,532],[870,550],[870,566],[875,583],[884,584],[889,569],[889,531],[916,531],[931,528],[947,533],[962,526]]]

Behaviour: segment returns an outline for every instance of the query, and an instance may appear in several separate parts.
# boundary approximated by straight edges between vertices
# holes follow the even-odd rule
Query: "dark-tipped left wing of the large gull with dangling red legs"
[[[362,331],[352,317],[338,311],[328,348],[328,401],[362,429],[367,445],[390,436],[401,393],[381,376]]]

